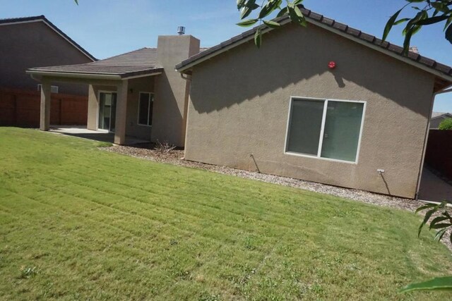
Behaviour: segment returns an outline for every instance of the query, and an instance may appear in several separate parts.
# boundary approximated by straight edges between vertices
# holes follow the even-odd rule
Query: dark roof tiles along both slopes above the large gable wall
[[[444,75],[447,75],[448,77],[451,77],[452,81],[452,67],[446,66],[442,63],[438,63],[434,61],[433,59],[429,59],[425,56],[421,56],[418,53],[410,51],[408,56],[403,56],[403,47],[391,44],[389,42],[382,42],[381,39],[375,37],[374,35],[369,35],[365,32],[362,32],[361,30],[357,30],[355,28],[352,28],[348,25],[345,25],[343,23],[336,22],[333,19],[326,18],[319,13],[314,13],[313,11],[309,11],[308,9],[302,8],[300,6],[300,9],[302,10],[303,15],[307,18],[307,20],[311,21],[311,23],[317,24],[317,25],[326,25],[327,27],[330,27],[335,32],[342,32],[350,38],[357,38],[362,40],[362,42],[369,43],[369,46],[376,46],[380,47],[381,49],[385,49],[388,51],[388,53],[393,53],[398,56],[400,56],[400,59],[410,59],[410,61],[413,61],[415,65],[418,66],[427,66],[427,68],[432,69],[432,71],[437,71],[439,73],[442,73]],[[276,18],[275,21],[283,23],[284,21],[289,22],[290,18],[288,16],[283,16],[280,18]],[[225,48],[231,48],[235,45],[240,44],[239,42],[242,42],[247,39],[251,39],[254,36],[254,33],[256,30],[261,27],[262,29],[265,28],[265,25],[260,25],[257,27],[254,27],[251,30],[248,30],[246,32],[243,32],[241,35],[237,35],[235,37],[232,37],[231,39],[228,39],[225,42],[222,42],[221,44],[218,44],[217,46],[211,47],[210,49],[206,51],[202,51],[199,54],[196,54],[194,56],[191,56],[191,58],[186,59],[185,61],[182,61],[182,63],[179,63],[176,66],[176,69],[179,71],[183,71],[186,68],[189,68],[190,66],[196,65],[196,63],[201,62],[203,58],[206,56],[212,57],[216,54],[219,54],[222,49]]]

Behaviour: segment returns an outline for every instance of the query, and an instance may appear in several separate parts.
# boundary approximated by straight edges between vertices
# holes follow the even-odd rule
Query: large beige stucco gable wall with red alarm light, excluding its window
[[[433,85],[344,37],[287,25],[261,49],[248,42],[194,67],[185,158],[256,170],[253,154],[263,173],[415,197]],[[357,164],[284,154],[291,96],[367,102]]]

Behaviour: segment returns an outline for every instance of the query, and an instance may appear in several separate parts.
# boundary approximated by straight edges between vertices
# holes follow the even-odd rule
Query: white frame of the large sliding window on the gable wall
[[[294,103],[294,100],[307,100],[307,101],[310,100],[310,101],[324,102],[323,103],[323,116],[322,116],[322,123],[321,123],[320,137],[319,137],[319,140],[320,140],[319,141],[319,149],[318,149],[316,156],[310,155],[310,154],[301,154],[301,153],[297,153],[297,152],[290,152],[287,150],[287,147],[289,147],[290,122],[292,120],[292,104]],[[361,128],[359,128],[359,139],[358,139],[358,146],[357,146],[355,161],[345,161],[345,160],[339,160],[339,159],[323,158],[321,156],[322,146],[323,146],[323,135],[325,134],[326,111],[328,109],[328,101],[331,101],[331,102],[356,102],[359,104],[363,104]],[[307,158],[321,159],[321,160],[326,160],[326,161],[335,161],[335,162],[347,163],[347,164],[358,164],[359,150],[361,149],[362,130],[364,128],[364,119],[366,116],[366,106],[367,106],[367,102],[361,101],[361,100],[326,99],[326,98],[291,96],[290,102],[289,102],[289,114],[288,114],[288,118],[287,118],[287,128],[286,128],[286,133],[285,133],[284,154],[291,155],[291,156],[303,156],[303,157],[307,157]]]

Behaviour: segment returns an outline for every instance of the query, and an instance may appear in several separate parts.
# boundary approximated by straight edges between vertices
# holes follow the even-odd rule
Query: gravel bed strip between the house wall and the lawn
[[[155,145],[147,143],[142,145],[124,146],[114,145],[112,147],[100,147],[100,149],[107,152],[115,152],[136,158],[147,159],[166,164],[174,164],[179,166],[186,166],[192,168],[204,169],[213,171],[215,173],[222,173],[230,176],[237,176],[239,178],[248,178],[253,180],[260,180],[266,183],[273,183],[292,188],[299,188],[313,192],[320,192],[326,195],[334,195],[336,197],[343,197],[345,199],[353,199],[358,202],[368,204],[375,204],[381,207],[390,207],[395,209],[403,209],[414,212],[418,207],[422,206],[423,202],[414,199],[404,199],[400,197],[390,197],[388,195],[379,195],[364,190],[355,190],[350,188],[340,188],[331,185],[309,182],[306,180],[297,180],[294,178],[285,178],[282,176],[268,175],[265,173],[258,173],[256,171],[244,171],[227,166],[218,166],[212,164],[204,164],[200,162],[187,161],[184,159],[184,150],[182,149],[158,149]],[[428,228],[428,227],[427,227]],[[449,240],[444,239],[442,242],[452,251],[452,244]]]

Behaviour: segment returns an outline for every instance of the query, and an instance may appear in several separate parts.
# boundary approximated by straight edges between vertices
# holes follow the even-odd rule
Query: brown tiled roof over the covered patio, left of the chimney
[[[141,48],[93,63],[31,68],[27,72],[32,74],[45,73],[45,75],[71,73],[73,75],[112,75],[119,78],[130,78],[161,73],[163,68],[155,66],[156,59],[156,48]]]

